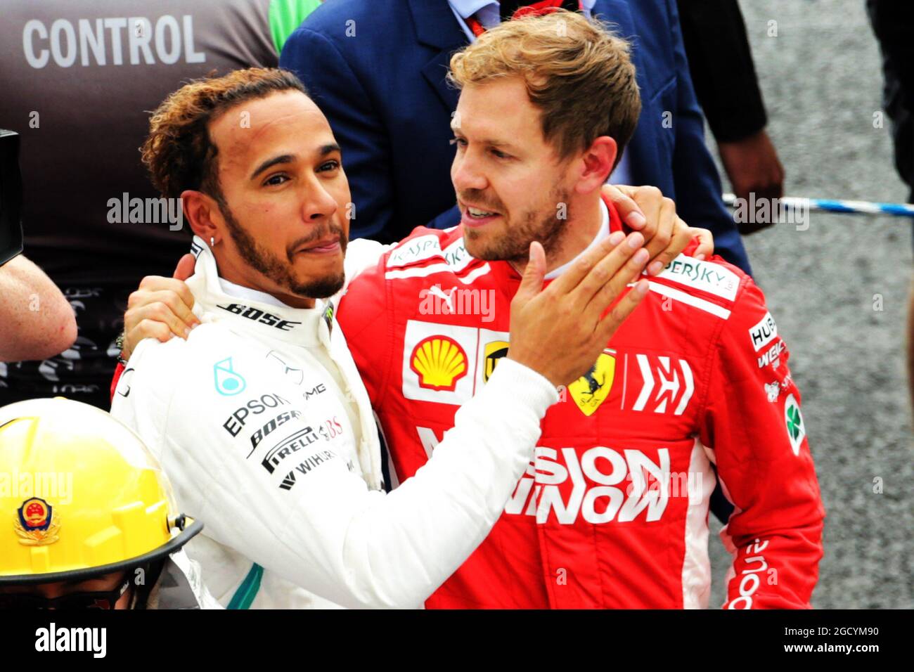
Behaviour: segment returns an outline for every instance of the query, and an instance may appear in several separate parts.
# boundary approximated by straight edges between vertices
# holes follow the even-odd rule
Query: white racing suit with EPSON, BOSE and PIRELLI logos
[[[503,361],[429,463],[385,494],[374,415],[333,304],[295,309],[229,285],[206,245],[195,248],[187,284],[203,324],[186,340],[143,340],[112,415],[206,524],[186,550],[209,590],[229,608],[420,607],[501,515],[556,389]],[[347,276],[381,251],[353,241]]]

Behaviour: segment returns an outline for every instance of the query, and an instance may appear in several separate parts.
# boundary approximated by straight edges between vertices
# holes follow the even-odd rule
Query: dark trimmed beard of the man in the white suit
[[[228,235],[231,236],[231,240],[233,240],[238,247],[241,258],[246,261],[252,269],[259,271],[287,292],[302,298],[326,299],[343,289],[345,271],[340,271],[306,283],[297,281],[292,275],[294,251],[309,242],[326,238],[329,234],[339,236],[340,249],[345,256],[347,240],[345,239],[343,229],[333,222],[330,222],[321,229],[314,230],[312,234],[305,236],[304,238],[295,240],[291,245],[286,247],[286,258],[283,260],[279,255],[267,250],[262,247],[257,240],[254,240],[254,237],[239,224],[238,219],[235,219],[235,216],[232,214],[231,209],[228,208],[228,205],[225,207],[220,205],[219,210],[222,212],[222,217],[226,220]]]

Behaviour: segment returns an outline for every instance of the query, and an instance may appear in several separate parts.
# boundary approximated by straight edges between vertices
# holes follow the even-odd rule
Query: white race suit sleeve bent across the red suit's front
[[[284,379],[268,377],[259,362],[235,351],[234,366],[244,371],[247,387],[237,397],[220,397],[212,364],[224,354],[212,345],[197,352],[185,347],[186,357],[136,362],[134,389],[143,387],[139,376],[150,368],[159,377],[157,387],[169,391],[160,398],[162,411],[154,411],[148,396],[132,395],[133,413],[163,414],[150,420],[160,430],[163,449],[156,452],[179,506],[204,521],[208,537],[350,607],[420,606],[489,533],[533,458],[541,419],[558,400],[547,379],[503,360],[457,412],[429,463],[387,495],[369,491],[322,442],[296,449],[294,460],[268,473],[267,455],[290,437],[307,437],[321,419],[308,418],[307,402],[282,405],[251,416],[244,431],[233,435],[228,428],[238,428],[232,414],[248,400],[295,400],[301,391],[296,394]],[[165,349],[178,348],[155,348]],[[251,433],[291,408],[302,413],[252,448]],[[288,464],[305,467],[294,471],[293,484]]]

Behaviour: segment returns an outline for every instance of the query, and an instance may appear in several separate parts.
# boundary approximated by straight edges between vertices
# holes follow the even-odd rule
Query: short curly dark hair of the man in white
[[[222,77],[192,80],[169,95],[153,112],[149,136],[140,148],[155,188],[166,198],[196,189],[224,208],[218,149],[209,138],[207,125],[235,105],[277,91],[308,95],[292,72],[279,68],[240,69]]]

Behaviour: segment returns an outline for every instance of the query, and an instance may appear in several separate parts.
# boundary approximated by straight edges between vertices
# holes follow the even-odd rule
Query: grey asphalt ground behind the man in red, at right
[[[908,189],[894,169],[888,119],[874,127],[882,70],[863,0],[740,6],[786,195],[903,202]],[[910,609],[914,453],[904,352],[912,222],[812,212],[809,224],[778,224],[745,243],[791,351],[827,512],[813,606]],[[719,528],[712,521],[712,532]],[[729,555],[713,536],[710,545],[711,605],[719,606]]]

